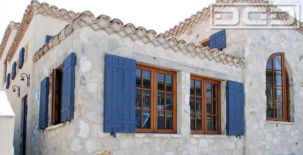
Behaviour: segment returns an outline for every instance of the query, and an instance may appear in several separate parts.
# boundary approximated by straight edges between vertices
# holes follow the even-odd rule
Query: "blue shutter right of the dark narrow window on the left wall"
[[[61,122],[70,121],[74,117],[75,100],[75,65],[76,55],[71,53],[63,61],[63,91],[61,100]]]

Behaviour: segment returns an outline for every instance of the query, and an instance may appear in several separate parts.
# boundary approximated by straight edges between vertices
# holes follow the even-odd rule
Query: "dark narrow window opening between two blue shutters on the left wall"
[[[61,123],[61,96],[62,96],[62,68],[53,70],[53,94],[52,94],[52,124]]]

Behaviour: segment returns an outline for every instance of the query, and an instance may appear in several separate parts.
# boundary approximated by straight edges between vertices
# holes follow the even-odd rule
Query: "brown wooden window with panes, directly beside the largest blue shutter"
[[[136,132],[176,133],[176,72],[136,67]]]

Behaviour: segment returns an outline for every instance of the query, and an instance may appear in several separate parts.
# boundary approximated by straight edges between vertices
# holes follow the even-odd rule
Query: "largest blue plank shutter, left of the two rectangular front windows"
[[[136,61],[105,56],[104,132],[135,132]]]

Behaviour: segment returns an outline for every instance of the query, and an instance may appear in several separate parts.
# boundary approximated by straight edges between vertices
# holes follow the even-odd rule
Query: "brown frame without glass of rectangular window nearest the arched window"
[[[198,77],[198,76],[194,76],[191,75],[190,76],[190,80],[194,80],[194,95],[189,94],[189,96],[192,97],[196,97],[196,90],[195,90],[195,81],[201,81],[201,96],[198,97],[202,97],[201,99],[201,107],[203,107],[203,109],[201,110],[202,113],[199,113],[198,115],[202,115],[201,117],[201,130],[190,130],[191,134],[221,134],[221,82],[218,80],[213,80],[213,79],[208,79],[208,78],[203,78],[203,77]],[[218,114],[217,115],[213,115],[213,114],[207,114],[207,87],[206,84],[207,83],[212,83],[212,84],[217,84],[217,91],[218,91],[218,97],[217,98],[211,98],[212,101],[213,99],[218,101]],[[212,95],[213,95],[213,89],[212,89]],[[194,102],[195,102],[195,98],[194,98]],[[196,110],[195,107],[195,103],[194,103],[194,110]],[[212,105],[212,113],[213,113],[213,105]],[[190,115],[194,114],[194,128],[196,128],[196,121],[195,121],[195,114],[197,113],[191,113]],[[218,131],[208,131],[207,130],[207,116],[217,116],[218,117]],[[213,122],[214,119],[212,119]],[[214,124],[212,124],[212,129]]]

